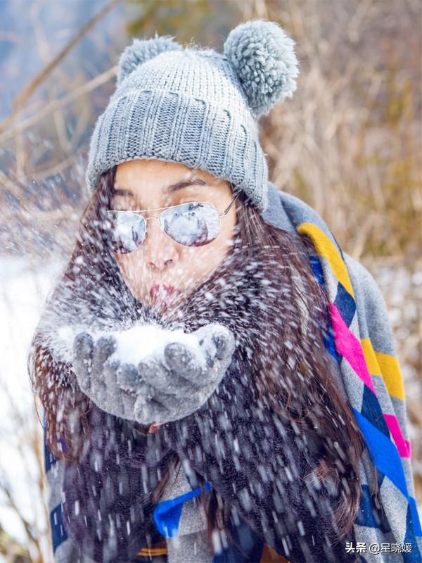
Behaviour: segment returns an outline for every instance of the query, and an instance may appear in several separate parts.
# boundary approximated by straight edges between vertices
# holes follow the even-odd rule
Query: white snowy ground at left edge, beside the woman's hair
[[[6,474],[20,512],[39,529],[46,523],[37,490],[39,469],[28,445],[37,422],[27,375],[27,351],[44,298],[60,267],[46,262],[35,265],[25,258],[0,258],[0,471]],[[0,523],[6,532],[27,543],[22,521],[14,510],[0,506]]]

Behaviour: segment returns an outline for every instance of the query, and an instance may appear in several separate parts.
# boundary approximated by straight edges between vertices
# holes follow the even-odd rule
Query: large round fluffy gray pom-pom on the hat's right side
[[[224,54],[255,115],[267,114],[275,103],[293,96],[299,75],[294,45],[279,24],[267,20],[250,20],[229,33]]]

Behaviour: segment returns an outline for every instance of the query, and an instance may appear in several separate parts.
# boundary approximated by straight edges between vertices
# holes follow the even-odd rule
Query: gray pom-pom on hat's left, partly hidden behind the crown
[[[132,45],[127,46],[120,56],[117,66],[117,86],[142,63],[165,51],[181,51],[181,49],[183,47],[173,41],[173,37],[158,35],[157,32],[151,39],[134,39]]]

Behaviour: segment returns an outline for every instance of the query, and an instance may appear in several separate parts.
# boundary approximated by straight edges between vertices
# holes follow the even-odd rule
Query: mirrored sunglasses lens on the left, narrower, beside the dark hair
[[[139,248],[146,233],[146,220],[130,211],[108,211],[110,243],[113,251],[127,254]]]

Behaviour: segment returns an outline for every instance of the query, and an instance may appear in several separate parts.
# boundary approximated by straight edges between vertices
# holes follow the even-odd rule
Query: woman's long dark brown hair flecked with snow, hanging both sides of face
[[[114,177],[115,167],[101,177],[82,216],[75,249],[46,310],[62,315],[71,302],[70,315],[79,318],[86,310],[77,309],[76,303],[88,299],[90,314],[103,322],[113,317],[113,321],[124,323],[139,315],[139,310],[134,312],[139,302],[124,284],[101,230],[101,213],[109,208]],[[264,222],[243,194],[236,200],[236,212],[233,251],[184,308],[173,317],[170,312],[167,321],[177,322],[188,310],[185,326],[190,329],[198,326],[198,318],[201,324],[219,320],[237,334],[236,345],[250,358],[262,403],[293,421],[319,444],[321,461],[313,473],[316,479],[331,479],[338,488],[335,522],[340,539],[352,528],[359,508],[359,461],[364,441],[350,405],[335,383],[324,345],[324,330],[330,327],[328,297],[309,263],[314,247],[306,236]],[[113,293],[113,312],[99,300],[98,284],[106,293]],[[238,286],[245,291],[233,291]],[[205,303],[204,296],[210,291],[218,291],[219,299]],[[238,313],[243,311],[245,299],[254,303],[255,314]],[[46,346],[42,326],[48,326],[48,316],[46,320],[40,323],[32,343],[28,365],[32,386],[44,406],[49,448],[60,459],[77,461],[81,445],[89,437],[92,405],[75,383],[70,363],[53,358]],[[139,424],[135,426],[142,429]],[[65,449],[60,438],[65,441]],[[173,473],[172,466],[155,489],[155,502]],[[373,492],[378,493],[376,477],[373,483]],[[229,507],[214,489],[203,491],[200,502],[207,514],[212,543],[212,532],[226,529]]]

